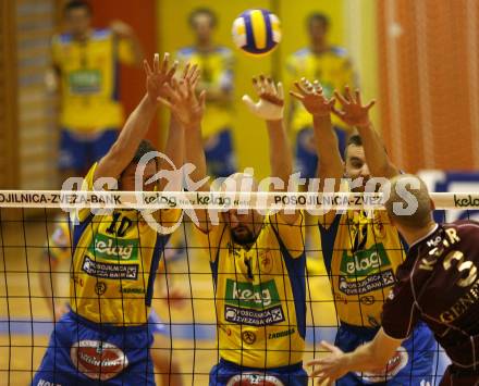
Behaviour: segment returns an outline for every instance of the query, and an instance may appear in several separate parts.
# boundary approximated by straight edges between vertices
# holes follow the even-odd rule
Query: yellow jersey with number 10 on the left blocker
[[[86,177],[89,190],[96,166]],[[176,210],[161,212],[163,221],[174,222],[177,215]],[[72,310],[95,323],[146,323],[169,235],[158,234],[138,211],[130,209],[103,215],[82,209],[77,217],[72,239]]]

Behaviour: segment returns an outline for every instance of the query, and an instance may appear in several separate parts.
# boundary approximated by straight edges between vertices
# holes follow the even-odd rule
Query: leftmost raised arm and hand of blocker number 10
[[[169,53],[164,54],[160,65],[158,54],[155,54],[153,70],[145,60],[147,92],[139,104],[128,116],[123,129],[108,153],[99,161],[94,180],[100,177],[118,178],[135,155],[142,139],[148,133],[149,125],[157,112],[158,98],[164,96],[164,85],[171,83],[176,63],[169,69]]]

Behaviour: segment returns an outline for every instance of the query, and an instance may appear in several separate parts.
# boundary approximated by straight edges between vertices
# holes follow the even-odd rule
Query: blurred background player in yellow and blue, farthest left
[[[60,84],[62,182],[85,175],[103,157],[123,125],[119,101],[120,63],[139,65],[143,57],[133,29],[122,22],[94,29],[91,7],[83,0],[64,8],[66,30],[52,39],[52,65]]]

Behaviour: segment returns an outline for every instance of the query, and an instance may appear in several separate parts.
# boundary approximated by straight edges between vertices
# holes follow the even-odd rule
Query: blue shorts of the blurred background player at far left
[[[91,137],[83,137],[63,128],[60,134],[60,170],[73,169],[77,174],[84,173],[110,150],[118,133],[111,128]]]

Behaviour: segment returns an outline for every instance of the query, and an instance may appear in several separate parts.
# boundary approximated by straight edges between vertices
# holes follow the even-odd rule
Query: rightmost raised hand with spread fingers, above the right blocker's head
[[[369,110],[376,104],[374,100],[363,105],[359,90],[356,89],[353,97],[347,86],[345,87],[345,96],[342,96],[337,91],[334,91],[334,96],[340,101],[342,110],[340,111],[333,108],[332,111],[345,124],[356,127],[366,127],[370,124]]]

